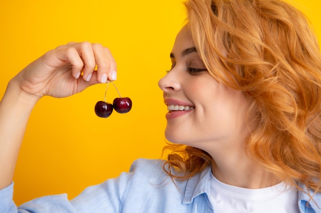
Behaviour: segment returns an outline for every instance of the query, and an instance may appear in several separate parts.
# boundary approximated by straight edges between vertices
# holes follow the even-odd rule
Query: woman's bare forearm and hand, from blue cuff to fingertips
[[[116,63],[109,50],[89,42],[58,46],[18,73],[0,102],[0,189],[12,182],[30,113],[41,97],[71,96],[115,78]]]

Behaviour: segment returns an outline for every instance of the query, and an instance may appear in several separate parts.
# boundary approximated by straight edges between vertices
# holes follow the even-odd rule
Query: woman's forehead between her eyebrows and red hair
[[[187,26],[184,26],[176,36],[172,53],[178,56],[180,55],[180,53],[182,53],[182,51],[188,48],[193,48],[194,46],[195,45],[194,45],[192,36],[190,34],[190,31]]]

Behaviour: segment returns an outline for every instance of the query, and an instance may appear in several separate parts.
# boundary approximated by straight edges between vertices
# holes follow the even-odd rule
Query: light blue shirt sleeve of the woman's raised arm
[[[122,199],[131,173],[87,187],[81,194],[68,200],[67,194],[44,196],[16,206],[13,198],[13,182],[0,190],[0,212],[6,213],[93,213],[122,211]]]

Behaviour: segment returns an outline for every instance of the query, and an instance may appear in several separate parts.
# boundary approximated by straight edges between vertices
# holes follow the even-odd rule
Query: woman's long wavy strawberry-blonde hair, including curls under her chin
[[[303,183],[321,192],[321,54],[306,16],[279,0],[185,5],[187,26],[213,78],[254,100],[257,125],[248,155],[299,190]],[[215,163],[203,150],[177,148],[167,164],[184,171],[181,179]]]

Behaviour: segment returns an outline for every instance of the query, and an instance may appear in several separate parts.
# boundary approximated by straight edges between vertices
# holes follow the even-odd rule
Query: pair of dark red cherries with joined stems
[[[128,97],[122,98],[116,85],[113,82],[111,83],[116,88],[119,98],[115,98],[113,101],[113,104],[106,102],[106,93],[109,86],[109,81],[108,81],[106,91],[105,91],[104,101],[98,101],[95,105],[95,113],[98,117],[109,117],[109,115],[111,115],[111,113],[113,112],[113,109],[115,109],[115,111],[118,113],[127,113],[131,110],[132,102],[130,98]]]

